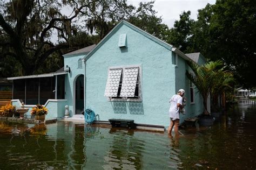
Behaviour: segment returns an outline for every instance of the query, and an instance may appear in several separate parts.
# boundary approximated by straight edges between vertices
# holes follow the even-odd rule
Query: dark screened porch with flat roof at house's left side
[[[65,72],[9,77],[13,80],[12,99],[25,105],[43,104],[49,99],[65,99]]]

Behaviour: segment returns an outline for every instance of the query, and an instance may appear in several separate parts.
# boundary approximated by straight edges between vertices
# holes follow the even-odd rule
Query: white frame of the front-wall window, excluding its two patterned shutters
[[[123,83],[125,68],[132,68],[132,67],[139,67],[138,82],[136,82],[136,86],[138,84],[138,97],[108,97],[108,101],[110,102],[142,102],[142,65],[113,66],[113,67],[109,67],[108,70],[122,68],[121,77],[122,77],[122,83]],[[120,88],[122,88],[122,86]]]

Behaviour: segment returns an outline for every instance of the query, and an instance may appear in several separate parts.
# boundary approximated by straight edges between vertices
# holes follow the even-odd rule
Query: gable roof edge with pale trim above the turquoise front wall
[[[132,25],[131,23],[122,20],[120,23],[118,23],[97,45],[95,48],[92,49],[92,51],[90,51],[85,57],[85,61],[88,60],[92,54],[94,54],[115,32],[117,32],[117,30],[123,26],[126,25],[128,27],[130,27],[130,29],[142,34],[143,36],[151,39],[152,41],[156,42],[157,44],[169,49],[170,51],[173,51],[177,54],[179,54],[182,58],[184,58],[185,60],[191,60],[190,58],[188,58],[188,56],[186,56],[183,52],[179,51],[178,48],[173,47],[173,45],[168,44],[167,42],[160,40],[157,37],[152,36],[150,33],[147,33],[146,31],[140,29],[139,27]]]

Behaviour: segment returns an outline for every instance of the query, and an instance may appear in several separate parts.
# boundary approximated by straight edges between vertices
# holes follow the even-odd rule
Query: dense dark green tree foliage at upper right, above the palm
[[[198,10],[196,21],[183,12],[170,31],[168,42],[184,53],[200,52],[222,60],[245,88],[255,87],[256,1],[217,1]]]

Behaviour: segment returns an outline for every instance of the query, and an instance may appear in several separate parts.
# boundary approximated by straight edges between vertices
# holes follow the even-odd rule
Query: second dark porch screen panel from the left
[[[38,104],[39,97],[39,79],[26,79],[26,103],[25,104]]]

